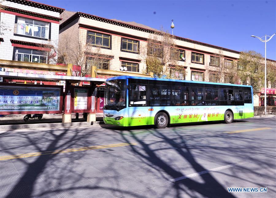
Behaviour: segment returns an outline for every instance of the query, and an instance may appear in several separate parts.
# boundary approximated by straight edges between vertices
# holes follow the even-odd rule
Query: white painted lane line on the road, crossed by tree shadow
[[[263,160],[265,158],[268,158],[268,157],[264,157],[264,158],[259,159],[259,160]],[[240,162],[240,163],[236,163],[236,164],[229,164],[229,165],[225,165],[225,166],[220,166],[220,167],[217,167],[217,168],[214,168],[214,169],[204,170],[204,171],[201,171],[201,172],[198,172],[198,173],[193,173],[193,174],[189,174],[189,175],[186,175],[186,176],[170,179],[169,181],[176,182],[176,181],[180,181],[180,180],[185,180],[185,179],[189,179],[189,178],[192,178],[192,177],[197,177],[197,176],[200,176],[200,175],[203,175],[203,174],[206,174],[206,173],[212,173],[212,172],[220,171],[220,170],[223,170],[223,169],[228,169],[228,168],[236,166],[236,165],[244,165],[244,164],[248,164],[248,163],[251,163],[251,162],[252,161],[244,161],[244,162]]]

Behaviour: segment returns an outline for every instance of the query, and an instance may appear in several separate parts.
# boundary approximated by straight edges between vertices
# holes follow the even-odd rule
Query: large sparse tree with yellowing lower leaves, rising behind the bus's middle
[[[163,31],[162,28],[161,31],[153,33],[148,38],[148,45],[141,48],[140,55],[146,61],[145,73],[153,72],[160,78],[170,77],[171,66],[180,70],[181,66],[177,64],[179,51],[174,43],[174,36],[168,31]],[[182,68],[180,71],[185,72]]]

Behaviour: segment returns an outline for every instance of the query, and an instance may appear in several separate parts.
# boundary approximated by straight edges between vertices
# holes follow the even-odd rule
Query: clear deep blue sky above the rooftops
[[[91,1],[35,0],[70,11],[109,19],[135,21],[155,29],[237,51],[255,50],[264,56],[262,37],[276,32],[276,1]],[[276,60],[276,36],[266,43],[266,57]]]

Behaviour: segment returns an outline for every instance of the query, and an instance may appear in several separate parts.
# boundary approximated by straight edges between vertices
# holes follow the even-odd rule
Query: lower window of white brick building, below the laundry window
[[[15,60],[32,63],[47,63],[47,52],[36,49],[16,48]]]

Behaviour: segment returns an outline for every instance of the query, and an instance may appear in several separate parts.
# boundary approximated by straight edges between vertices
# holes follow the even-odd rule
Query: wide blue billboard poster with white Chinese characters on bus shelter
[[[60,88],[0,86],[0,111],[59,111]]]

